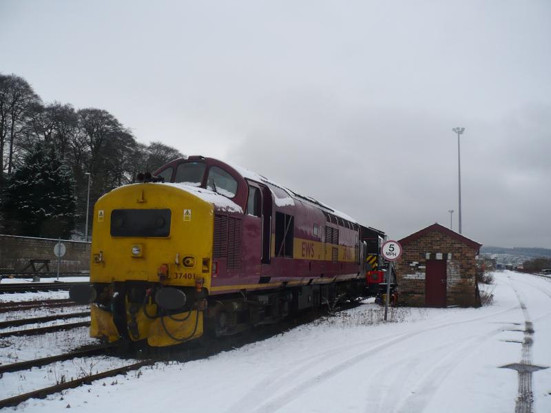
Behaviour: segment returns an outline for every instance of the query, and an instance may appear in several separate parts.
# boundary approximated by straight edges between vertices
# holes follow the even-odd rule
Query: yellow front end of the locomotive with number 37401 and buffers
[[[86,293],[92,337],[150,346],[200,337],[213,225],[212,204],[178,184],[132,184],[100,198]]]

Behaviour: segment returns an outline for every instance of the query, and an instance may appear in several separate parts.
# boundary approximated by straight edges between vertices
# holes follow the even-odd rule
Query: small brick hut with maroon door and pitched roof
[[[476,256],[482,244],[440,224],[402,240],[397,261],[399,302],[407,306],[478,306]]]

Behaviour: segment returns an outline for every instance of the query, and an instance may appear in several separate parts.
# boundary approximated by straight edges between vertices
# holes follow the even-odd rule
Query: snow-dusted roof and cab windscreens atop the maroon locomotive
[[[300,195],[291,189],[277,184],[264,176],[227,162],[204,156],[178,158],[154,172],[165,182],[189,191],[216,207],[227,211],[242,212],[247,205],[248,181],[267,186],[278,207],[294,206],[295,202],[311,204],[318,209],[333,214],[341,220],[357,223],[349,215],[337,211],[314,198]]]

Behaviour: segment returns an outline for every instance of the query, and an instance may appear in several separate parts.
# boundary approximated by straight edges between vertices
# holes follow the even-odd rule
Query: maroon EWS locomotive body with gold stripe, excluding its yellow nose
[[[360,225],[344,213],[213,158],[174,160],[154,175],[233,202],[214,206],[209,297],[220,301],[225,313],[241,309],[244,301],[267,303],[251,316],[258,324],[362,295],[365,243]],[[251,308],[246,312],[249,317]],[[216,318],[216,310],[207,318],[213,313]],[[247,317],[233,317],[237,321],[218,328],[218,334],[238,329]]]

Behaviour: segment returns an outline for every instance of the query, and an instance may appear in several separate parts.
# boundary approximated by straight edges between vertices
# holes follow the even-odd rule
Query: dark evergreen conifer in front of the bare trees
[[[35,145],[10,176],[2,204],[5,231],[31,237],[70,237],[76,196],[72,171],[52,145]]]

